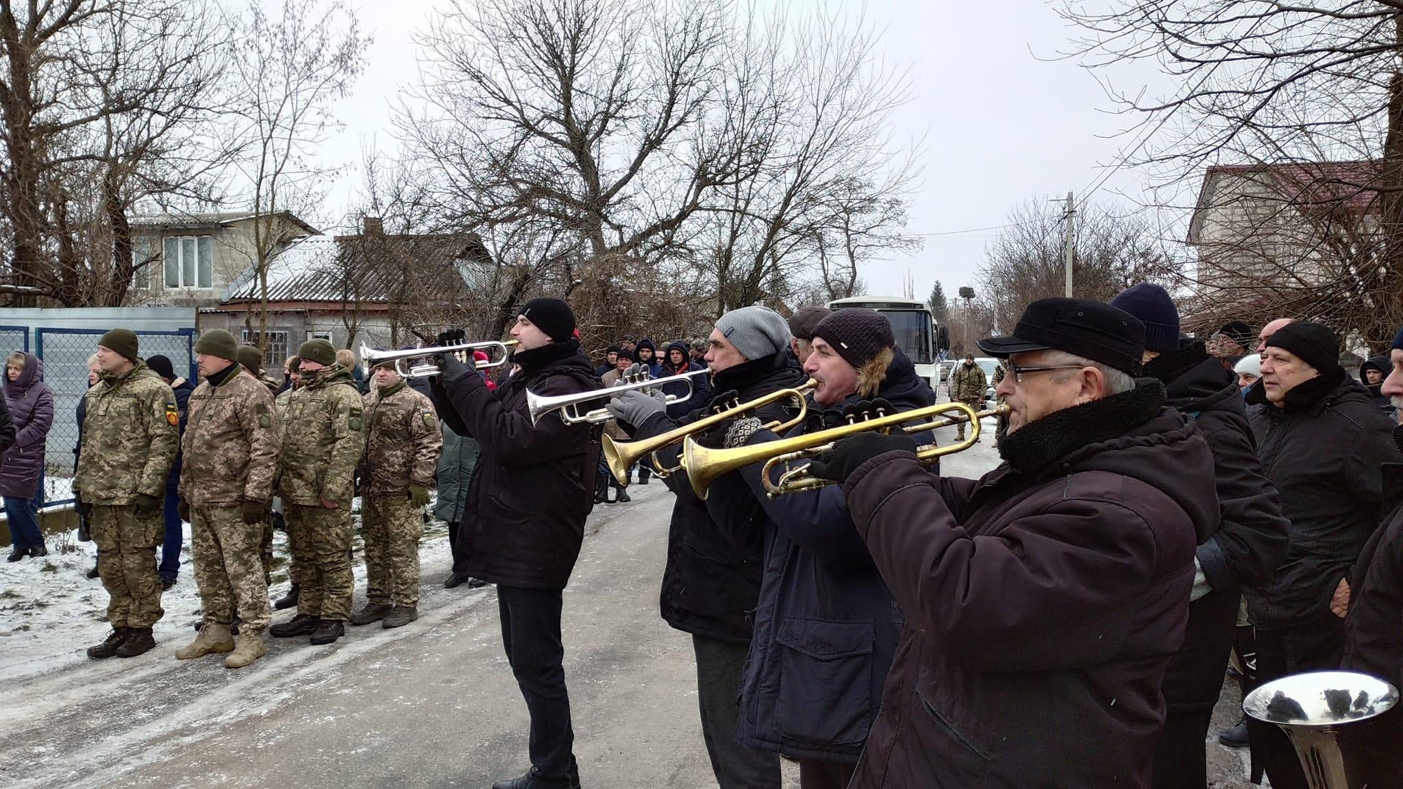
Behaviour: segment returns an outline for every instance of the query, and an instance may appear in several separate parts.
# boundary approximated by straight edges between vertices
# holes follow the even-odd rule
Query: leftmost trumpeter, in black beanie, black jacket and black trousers
[[[532,767],[494,789],[579,785],[560,609],[593,507],[599,444],[588,424],[567,425],[558,414],[532,424],[526,410],[528,389],[544,396],[600,389],[574,331],[570,305],[532,299],[511,331],[521,372],[492,390],[476,369],[442,357],[434,386],[443,421],[481,446],[459,541],[471,543],[467,573],[497,584],[502,647],[530,713]]]

